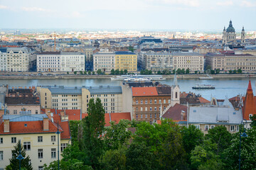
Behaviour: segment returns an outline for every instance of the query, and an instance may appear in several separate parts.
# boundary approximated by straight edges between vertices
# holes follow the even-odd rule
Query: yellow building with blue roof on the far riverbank
[[[137,72],[137,55],[134,52],[117,51],[115,52],[114,66],[114,69],[127,69],[128,72]]]

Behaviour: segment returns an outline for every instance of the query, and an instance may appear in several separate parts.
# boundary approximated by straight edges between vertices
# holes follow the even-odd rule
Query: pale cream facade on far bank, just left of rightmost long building
[[[199,53],[174,53],[173,67],[176,69],[189,69],[203,72],[204,56]]]

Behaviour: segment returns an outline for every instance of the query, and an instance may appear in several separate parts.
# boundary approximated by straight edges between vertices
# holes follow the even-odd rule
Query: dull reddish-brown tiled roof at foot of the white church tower
[[[187,106],[176,103],[173,107],[169,108],[162,118],[169,118],[172,120],[181,120],[181,111],[187,113]],[[186,114],[183,115],[183,120],[186,120]]]

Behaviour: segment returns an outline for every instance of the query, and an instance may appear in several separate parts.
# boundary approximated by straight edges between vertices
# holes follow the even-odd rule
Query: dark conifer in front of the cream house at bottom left
[[[19,155],[19,151],[21,150],[21,155],[24,159],[21,159],[21,168],[32,170],[32,164],[30,163],[31,159],[29,156],[26,157],[26,151],[21,145],[21,140],[18,140],[18,143],[16,146],[14,146],[14,150],[11,150],[12,157],[9,159],[10,164],[9,166],[6,166],[6,169],[19,169],[19,160],[16,159]]]

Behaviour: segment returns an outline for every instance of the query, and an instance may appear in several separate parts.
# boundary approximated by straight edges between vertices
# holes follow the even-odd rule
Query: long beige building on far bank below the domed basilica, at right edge
[[[211,69],[223,71],[242,69],[242,71],[250,72],[256,70],[256,55],[208,53],[206,65],[210,65]]]

